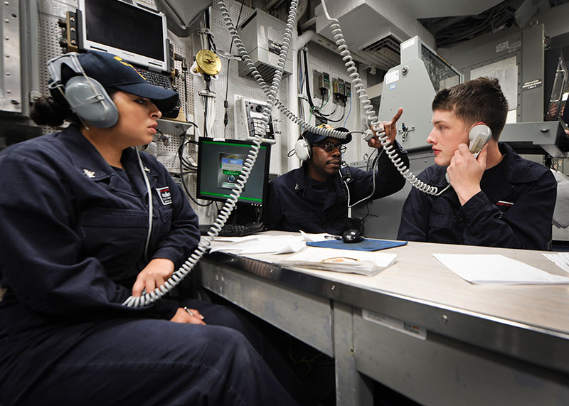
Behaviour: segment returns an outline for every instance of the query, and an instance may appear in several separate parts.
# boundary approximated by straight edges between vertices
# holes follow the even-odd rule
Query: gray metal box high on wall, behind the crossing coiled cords
[[[262,78],[270,85],[278,68],[282,39],[285,38],[285,21],[271,16],[264,11],[255,10],[238,28],[238,33],[247,49],[252,63]],[[282,78],[292,73],[292,47],[287,53]],[[252,78],[247,64],[239,62],[239,75]]]

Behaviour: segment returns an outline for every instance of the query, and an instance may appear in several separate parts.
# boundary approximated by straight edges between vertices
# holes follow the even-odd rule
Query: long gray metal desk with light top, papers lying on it
[[[336,404],[369,405],[367,377],[424,405],[568,405],[569,285],[469,284],[432,253],[500,254],[565,274],[538,251],[410,242],[374,277],[215,252],[203,287],[336,363]]]

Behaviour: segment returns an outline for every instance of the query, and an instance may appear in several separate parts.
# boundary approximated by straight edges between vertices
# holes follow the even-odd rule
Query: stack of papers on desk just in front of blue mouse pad
[[[280,265],[373,276],[395,262],[397,254],[306,247],[277,261]]]

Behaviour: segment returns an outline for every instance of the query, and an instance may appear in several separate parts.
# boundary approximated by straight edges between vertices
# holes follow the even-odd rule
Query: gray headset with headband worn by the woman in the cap
[[[65,85],[61,83],[63,65],[80,74],[70,78]],[[117,106],[105,88],[97,80],[85,74],[78,53],[70,52],[48,60],[48,72],[53,80],[48,85],[51,94],[59,91],[80,119],[99,128],[109,128],[117,124],[119,119]]]

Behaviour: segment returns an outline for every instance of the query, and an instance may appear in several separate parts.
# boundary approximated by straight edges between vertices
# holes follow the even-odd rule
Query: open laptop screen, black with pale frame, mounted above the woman
[[[120,0],[79,0],[79,48],[100,50],[144,69],[169,70],[166,16]]]

